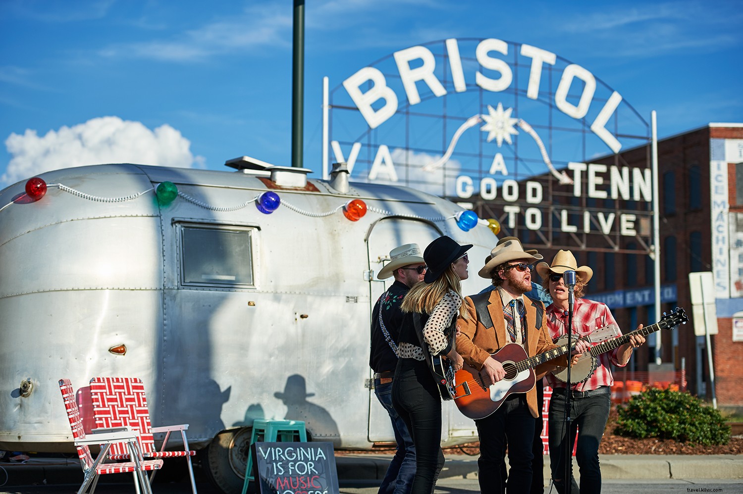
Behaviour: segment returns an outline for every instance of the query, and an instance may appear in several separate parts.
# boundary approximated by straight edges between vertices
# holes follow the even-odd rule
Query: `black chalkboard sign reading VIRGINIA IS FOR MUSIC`
[[[262,494],[338,494],[333,443],[254,443],[253,478]]]

